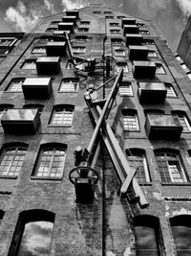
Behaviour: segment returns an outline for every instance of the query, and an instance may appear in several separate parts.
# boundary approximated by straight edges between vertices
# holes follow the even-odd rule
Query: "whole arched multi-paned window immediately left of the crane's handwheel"
[[[43,145],[34,168],[34,176],[60,178],[63,175],[66,145]]]

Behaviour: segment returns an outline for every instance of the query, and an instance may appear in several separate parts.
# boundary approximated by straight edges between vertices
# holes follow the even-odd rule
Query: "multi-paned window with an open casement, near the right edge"
[[[156,151],[155,156],[162,183],[187,182],[178,153],[173,151]]]

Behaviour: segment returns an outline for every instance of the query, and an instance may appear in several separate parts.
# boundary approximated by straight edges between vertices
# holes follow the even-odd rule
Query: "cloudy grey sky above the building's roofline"
[[[191,14],[191,0],[0,0],[0,32],[30,32],[38,17],[91,3],[154,20],[173,52]]]

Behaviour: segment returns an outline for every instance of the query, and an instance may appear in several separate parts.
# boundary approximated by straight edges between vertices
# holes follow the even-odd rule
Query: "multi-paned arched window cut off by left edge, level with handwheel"
[[[11,146],[5,148],[0,159],[0,175],[1,176],[17,176],[22,168],[26,145]]]

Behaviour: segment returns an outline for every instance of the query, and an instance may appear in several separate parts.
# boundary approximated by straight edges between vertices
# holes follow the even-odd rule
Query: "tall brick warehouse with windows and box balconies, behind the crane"
[[[0,255],[191,254],[191,81],[152,21],[96,4],[41,18],[0,81]],[[79,157],[98,181],[74,185],[117,85]]]

